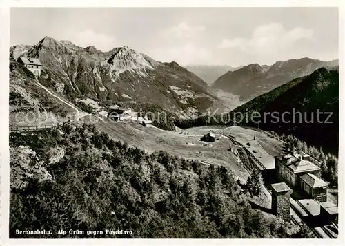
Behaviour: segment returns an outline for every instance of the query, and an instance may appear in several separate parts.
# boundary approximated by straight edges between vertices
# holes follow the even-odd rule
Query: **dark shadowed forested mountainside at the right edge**
[[[270,113],[259,128],[291,134],[337,155],[339,144],[339,68],[319,68],[235,108],[235,112]],[[293,111],[295,113],[293,116]],[[317,119],[317,111],[321,112]],[[279,115],[279,122],[272,114]],[[284,114],[285,113],[285,114]],[[284,115],[283,115],[284,114]],[[284,121],[282,120],[284,117]],[[295,117],[295,122],[293,122]],[[328,118],[329,117],[329,118]],[[257,124],[253,124],[257,126]]]

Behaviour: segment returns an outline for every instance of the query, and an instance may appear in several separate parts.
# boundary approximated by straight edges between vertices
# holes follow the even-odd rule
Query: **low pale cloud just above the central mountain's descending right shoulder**
[[[177,61],[180,65],[186,66],[195,63],[208,64],[211,53],[209,49],[188,43],[175,47],[155,48],[150,50],[150,56],[158,61]]]

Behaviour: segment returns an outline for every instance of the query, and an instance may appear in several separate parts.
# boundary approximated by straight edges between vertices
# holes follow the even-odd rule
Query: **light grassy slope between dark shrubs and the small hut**
[[[85,120],[88,122],[88,117]],[[240,169],[235,156],[228,151],[232,143],[226,138],[212,143],[213,147],[207,147],[203,146],[204,142],[199,141],[206,132],[184,135],[153,127],[147,128],[135,123],[114,123],[108,120],[98,121],[95,126],[99,131],[110,135],[115,141],[127,142],[130,146],[146,149],[150,153],[164,150],[181,158],[230,168],[241,180],[248,178],[248,171]]]

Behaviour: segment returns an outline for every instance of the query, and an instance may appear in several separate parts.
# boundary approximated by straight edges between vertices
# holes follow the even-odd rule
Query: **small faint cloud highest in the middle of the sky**
[[[177,26],[173,26],[168,30],[164,31],[164,35],[168,37],[190,38],[204,32],[204,26],[189,26],[187,23],[179,23]]]

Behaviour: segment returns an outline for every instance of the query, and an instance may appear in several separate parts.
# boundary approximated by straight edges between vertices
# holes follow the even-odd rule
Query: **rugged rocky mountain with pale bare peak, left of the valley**
[[[39,58],[43,64],[39,82],[70,100],[150,103],[195,115],[222,107],[197,75],[176,62],[155,61],[128,46],[102,52],[94,46],[83,48],[44,37],[35,46],[12,46],[10,53],[14,59],[20,55]]]

